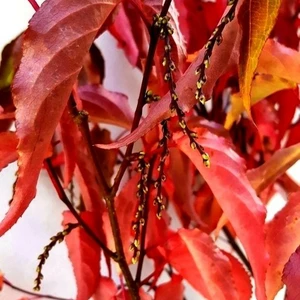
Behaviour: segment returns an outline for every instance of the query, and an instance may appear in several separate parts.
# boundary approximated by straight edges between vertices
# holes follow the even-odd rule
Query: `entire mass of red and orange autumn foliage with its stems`
[[[185,282],[199,299],[271,300],[284,284],[300,299],[300,190],[286,173],[300,159],[300,4],[162,2],[29,1],[0,68],[0,170],[18,164],[0,235],[45,169],[66,211],[37,291],[65,241],[77,300],[186,299]],[[143,74],[135,110],[103,85],[105,31]],[[279,187],[286,205],[266,222]]]

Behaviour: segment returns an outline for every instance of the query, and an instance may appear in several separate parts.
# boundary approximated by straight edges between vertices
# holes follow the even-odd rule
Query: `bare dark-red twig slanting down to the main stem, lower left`
[[[94,233],[94,231],[86,224],[86,222],[81,218],[79,213],[76,211],[76,209],[73,207],[71,201],[67,197],[62,184],[54,170],[54,167],[52,166],[51,160],[47,158],[45,160],[45,167],[47,169],[47,172],[49,174],[49,177],[56,189],[56,192],[59,196],[59,198],[62,200],[62,202],[69,208],[71,213],[74,215],[80,226],[86,231],[86,233],[102,248],[102,250],[108,254],[112,259],[116,260],[117,256],[116,253],[111,251],[106,247],[106,245],[98,238],[98,236]]]

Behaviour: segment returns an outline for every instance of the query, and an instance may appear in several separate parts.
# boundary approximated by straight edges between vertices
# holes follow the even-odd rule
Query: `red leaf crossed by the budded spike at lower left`
[[[63,225],[77,223],[69,211],[64,212],[63,217]],[[92,213],[83,212],[81,217],[92,229],[97,228]],[[100,280],[100,247],[81,227],[73,229],[65,241],[77,284],[76,300],[89,300]]]

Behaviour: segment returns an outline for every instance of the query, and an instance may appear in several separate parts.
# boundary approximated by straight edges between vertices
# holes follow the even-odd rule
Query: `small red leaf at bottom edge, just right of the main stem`
[[[159,285],[155,291],[155,300],[182,300],[184,286],[182,277],[173,274],[171,281]]]

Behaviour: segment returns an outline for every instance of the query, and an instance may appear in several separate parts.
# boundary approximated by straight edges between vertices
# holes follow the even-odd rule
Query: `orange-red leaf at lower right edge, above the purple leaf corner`
[[[266,289],[273,299],[282,288],[284,265],[300,244],[300,192],[290,196],[286,206],[266,226],[266,245],[270,254]]]

